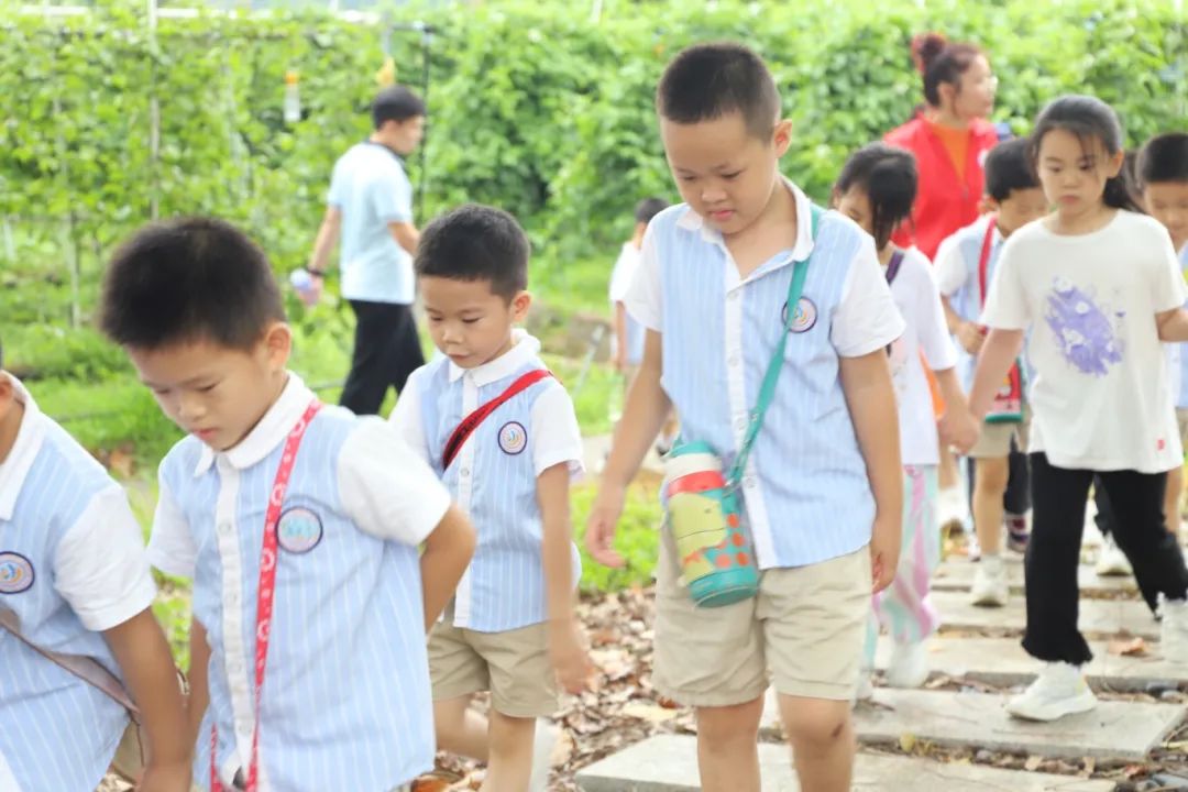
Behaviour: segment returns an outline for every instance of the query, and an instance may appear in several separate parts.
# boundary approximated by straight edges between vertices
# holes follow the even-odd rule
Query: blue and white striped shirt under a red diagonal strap
[[[442,451],[462,418],[498,398],[520,375],[545,368],[541,343],[517,331],[500,357],[462,369],[440,357],[413,372],[392,424],[429,461],[478,534],[474,558],[457,587],[454,623],[484,633],[548,619],[541,507],[536,480],[557,464],[582,469],[582,438],[561,382],[548,379],[513,397],[479,425],[457,458],[442,469]],[[581,562],[573,549],[574,579]]]

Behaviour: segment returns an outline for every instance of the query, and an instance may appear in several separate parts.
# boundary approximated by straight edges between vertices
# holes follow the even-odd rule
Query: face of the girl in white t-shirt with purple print
[[[1040,141],[1040,184],[1062,217],[1080,217],[1101,208],[1106,182],[1118,176],[1123,157],[1098,138],[1082,141],[1068,129],[1051,129]]]

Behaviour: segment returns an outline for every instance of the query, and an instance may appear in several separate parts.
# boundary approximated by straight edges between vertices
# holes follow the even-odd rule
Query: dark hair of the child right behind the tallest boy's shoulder
[[[899,223],[911,216],[917,183],[916,157],[910,151],[872,142],[849,156],[834,189],[839,196],[855,186],[866,192],[874,247],[881,251]]]

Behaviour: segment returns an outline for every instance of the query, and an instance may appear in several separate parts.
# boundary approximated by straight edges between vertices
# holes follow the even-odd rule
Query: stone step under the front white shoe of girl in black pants
[[[866,743],[898,745],[911,735],[942,747],[1142,761],[1186,714],[1181,704],[1100,701],[1091,712],[1031,723],[1007,715],[1005,703],[1000,695],[880,688],[855,709],[854,723]]]

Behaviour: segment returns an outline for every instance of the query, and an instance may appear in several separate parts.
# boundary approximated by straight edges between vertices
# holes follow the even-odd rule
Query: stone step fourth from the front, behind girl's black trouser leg
[[[999,628],[1019,631],[1026,626],[1022,595],[1012,596],[1004,608],[980,608],[965,591],[934,591],[933,604],[944,628]],[[1140,600],[1086,600],[1080,603],[1079,626],[1086,635],[1116,635],[1129,632],[1157,639],[1159,625]]]

